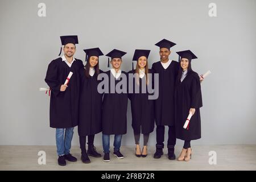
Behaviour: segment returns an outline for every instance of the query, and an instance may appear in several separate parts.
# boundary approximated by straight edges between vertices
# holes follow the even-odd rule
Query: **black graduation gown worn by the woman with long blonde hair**
[[[135,70],[131,70],[129,73],[134,74]],[[148,73],[152,73],[151,69],[148,69]],[[154,76],[152,76],[153,78]],[[146,75],[143,79],[146,80]],[[142,78],[139,77],[139,93],[135,93],[135,85],[137,85],[137,81],[133,79],[133,93],[128,94],[131,101],[131,126],[135,134],[148,134],[154,130],[155,126],[154,100],[148,100],[148,95],[150,95],[148,90],[146,93],[141,93]]]

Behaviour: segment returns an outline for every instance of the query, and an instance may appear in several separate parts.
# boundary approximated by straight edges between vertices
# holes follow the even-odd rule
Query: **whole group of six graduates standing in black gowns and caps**
[[[76,162],[75,156],[70,154],[73,129],[78,126],[81,160],[90,163],[89,156],[101,158],[101,154],[94,147],[94,135],[102,132],[102,146],[104,162],[110,161],[110,135],[114,135],[114,152],[118,159],[122,159],[120,152],[122,135],[127,131],[127,103],[131,101],[132,127],[135,139],[135,156],[147,156],[147,143],[150,133],[156,125],[155,159],[163,155],[164,129],[168,126],[168,159],[175,160],[174,148],[176,138],[184,140],[183,149],[177,160],[189,161],[192,155],[190,142],[201,138],[200,107],[202,106],[199,76],[191,69],[192,59],[197,57],[189,50],[177,52],[179,60],[169,59],[170,48],[175,43],[163,39],[155,45],[160,48],[160,61],[148,68],[150,50],[136,49],[133,60],[137,61],[135,69],[129,72],[121,70],[122,57],[126,52],[113,49],[106,56],[112,68],[103,72],[99,68],[99,57],[104,55],[100,48],[84,49],[86,64],[76,59],[77,36],[61,36],[64,55],[52,60],[48,65],[45,81],[51,89],[50,99],[50,127],[56,128],[56,146],[58,164],[65,166],[65,160]],[[61,52],[60,52],[61,54]],[[109,63],[108,63],[109,66]],[[69,72],[73,75],[68,84],[64,85]],[[109,77],[109,92],[98,92],[100,73]],[[115,86],[120,84],[122,75],[134,74],[133,88],[137,85],[139,92],[117,92]],[[158,80],[154,75],[158,73]],[[127,76],[128,77],[128,76]],[[151,79],[151,80],[150,80]],[[110,81],[114,80],[110,84]],[[158,98],[149,99],[152,94],[147,87],[142,92],[143,85],[158,82]],[[131,86],[131,85],[129,85]],[[129,87],[128,86],[128,87]],[[114,87],[114,88],[113,88]],[[134,91],[134,90],[133,90]],[[193,114],[189,127],[183,128],[189,112]],[[143,134],[143,148],[139,140]],[[86,150],[86,136],[88,149]]]

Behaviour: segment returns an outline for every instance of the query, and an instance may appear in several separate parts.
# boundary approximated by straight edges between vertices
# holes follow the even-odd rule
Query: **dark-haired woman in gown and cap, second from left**
[[[102,94],[97,87],[100,81],[98,75],[102,72],[99,68],[99,56],[104,55],[100,48],[84,49],[86,53],[86,65],[80,70],[80,100],[79,100],[79,124],[78,133],[81,148],[81,160],[90,163],[89,156],[100,158],[101,154],[94,147],[94,135],[102,131],[101,111]],[[88,151],[86,152],[86,136],[88,136]]]

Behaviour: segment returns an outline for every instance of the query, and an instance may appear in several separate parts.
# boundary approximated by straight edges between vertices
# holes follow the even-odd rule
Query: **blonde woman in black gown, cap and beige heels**
[[[154,117],[154,100],[148,99],[148,96],[152,94],[148,92],[148,85],[152,85],[152,71],[148,69],[148,55],[150,50],[136,49],[134,52],[133,60],[137,61],[136,69],[133,69],[129,74],[133,74],[133,81],[129,82],[133,84],[133,92],[129,91],[129,99],[131,101],[131,115],[132,122],[131,126],[134,131],[135,139],[135,155],[137,157],[146,157],[147,156],[147,143],[150,133],[154,130],[155,126],[155,117]],[[149,74],[151,74],[151,77]],[[137,92],[136,91],[137,88]],[[144,90],[143,90],[143,89]],[[138,92],[139,91],[139,92]],[[143,134],[143,149],[139,146],[139,138]]]

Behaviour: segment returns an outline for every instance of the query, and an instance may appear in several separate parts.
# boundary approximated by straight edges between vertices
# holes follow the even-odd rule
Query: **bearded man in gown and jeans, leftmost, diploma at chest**
[[[73,137],[73,129],[78,123],[79,111],[79,70],[84,67],[82,61],[75,59],[76,35],[61,36],[64,55],[52,60],[48,65],[45,81],[51,89],[50,127],[56,128],[56,146],[58,164],[65,166],[65,160],[76,162],[69,152]],[[61,53],[61,52],[60,52]],[[69,73],[73,75],[64,85]]]

